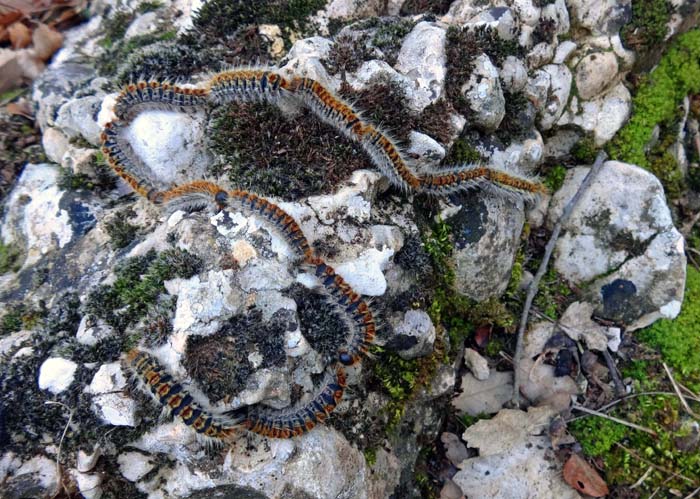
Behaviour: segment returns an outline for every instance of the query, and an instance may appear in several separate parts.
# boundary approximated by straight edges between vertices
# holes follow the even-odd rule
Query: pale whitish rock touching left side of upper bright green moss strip
[[[632,111],[632,97],[624,84],[618,83],[609,92],[592,101],[579,103],[571,99],[569,109],[557,123],[559,126],[577,125],[593,132],[596,146],[612,139],[627,122]]]

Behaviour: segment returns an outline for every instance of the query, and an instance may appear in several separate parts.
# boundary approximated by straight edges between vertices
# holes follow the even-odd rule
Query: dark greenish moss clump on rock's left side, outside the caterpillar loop
[[[162,253],[151,250],[143,256],[129,258],[115,269],[114,284],[99,286],[90,293],[86,312],[123,332],[165,293],[163,281],[192,277],[201,266],[199,257],[180,249]]]

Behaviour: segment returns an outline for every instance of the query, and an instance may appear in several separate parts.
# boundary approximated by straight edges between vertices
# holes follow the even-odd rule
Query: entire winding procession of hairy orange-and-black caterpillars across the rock
[[[152,355],[132,350],[126,357],[127,368],[149,388],[155,399],[198,434],[215,440],[226,440],[239,428],[267,437],[289,438],[324,421],[342,398],[345,389],[343,365],[359,363],[374,341],[374,315],[367,302],[313,252],[299,225],[279,206],[256,194],[225,190],[207,181],[159,190],[138,174],[130,152],[119,142],[122,131],[142,108],[187,109],[255,100],[274,103],[280,98],[298,99],[324,122],[360,143],[379,170],[403,190],[444,196],[487,182],[525,195],[545,191],[541,184],[531,179],[481,165],[464,165],[420,176],[408,166],[400,149],[387,134],[364,121],[349,104],[310,78],[285,78],[270,70],[241,69],[218,73],[200,88],[157,81],[140,81],[124,88],[115,105],[116,118],[105,126],[101,135],[102,152],[113,170],[135,192],[154,204],[200,199],[220,209],[233,208],[265,218],[287,240],[301,263],[313,270],[322,284],[321,289],[353,326],[353,331],[348,332],[346,346],[338,352],[334,379],[309,403],[291,412],[270,413],[245,408],[238,410],[234,418],[214,415],[198,405]]]

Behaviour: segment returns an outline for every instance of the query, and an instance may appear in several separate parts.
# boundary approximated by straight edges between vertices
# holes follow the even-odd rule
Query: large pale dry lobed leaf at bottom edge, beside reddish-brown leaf
[[[562,479],[542,430],[553,415],[549,408],[502,410],[491,420],[477,421],[462,438],[479,457],[465,461],[452,480],[470,497],[580,498]]]

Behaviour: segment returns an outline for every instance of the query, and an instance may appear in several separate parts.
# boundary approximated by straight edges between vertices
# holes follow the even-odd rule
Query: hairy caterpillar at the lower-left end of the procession
[[[152,398],[197,434],[219,441],[229,440],[240,425],[213,415],[194,401],[182,384],[167,373],[151,354],[133,349],[125,358],[125,366]]]

